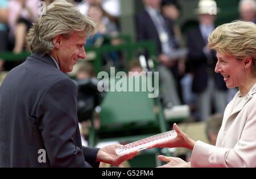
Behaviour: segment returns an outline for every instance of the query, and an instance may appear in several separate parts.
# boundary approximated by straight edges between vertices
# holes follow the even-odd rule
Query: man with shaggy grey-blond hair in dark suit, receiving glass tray
[[[95,24],[71,3],[55,1],[28,33],[32,55],[0,87],[0,167],[119,165],[138,152],[83,147],[77,120],[77,87],[65,74],[85,59]]]

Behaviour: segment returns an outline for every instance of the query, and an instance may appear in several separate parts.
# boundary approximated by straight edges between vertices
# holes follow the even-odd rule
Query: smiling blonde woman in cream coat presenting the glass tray
[[[194,141],[174,124],[177,138],[152,147],[184,147],[192,150],[191,163],[159,156],[163,167],[255,167],[256,166],[256,25],[232,22],[217,27],[209,47],[217,51],[216,73],[228,88],[239,91],[226,106],[216,146]]]

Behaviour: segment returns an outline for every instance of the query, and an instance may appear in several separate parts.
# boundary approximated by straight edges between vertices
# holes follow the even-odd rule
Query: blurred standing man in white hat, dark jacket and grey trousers
[[[223,114],[227,105],[226,84],[220,73],[215,73],[216,52],[209,49],[208,36],[214,30],[216,15],[210,15],[210,8],[218,12],[213,0],[200,0],[196,14],[199,27],[188,32],[188,62],[193,74],[192,91],[197,97],[199,120],[207,120],[213,109]]]

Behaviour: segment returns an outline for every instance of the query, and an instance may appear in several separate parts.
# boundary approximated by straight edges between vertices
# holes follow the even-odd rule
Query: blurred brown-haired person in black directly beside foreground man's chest
[[[77,85],[77,118],[81,133],[82,143],[88,145],[90,127],[100,128],[100,118],[94,112],[100,104],[100,92],[97,90],[98,80],[95,78],[94,67],[89,62],[84,62],[76,73]],[[94,114],[94,115],[93,115]]]

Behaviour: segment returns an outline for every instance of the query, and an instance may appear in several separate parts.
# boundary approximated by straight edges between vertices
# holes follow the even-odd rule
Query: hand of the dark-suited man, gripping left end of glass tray
[[[135,152],[130,152],[125,155],[119,156],[117,155],[117,153],[115,153],[115,149],[121,146],[122,145],[119,145],[119,144],[112,144],[112,145],[107,145],[105,147],[102,147],[98,151],[96,161],[101,161],[104,163],[118,166],[126,160],[133,159],[133,157],[135,157],[139,152],[139,151],[135,151]]]

